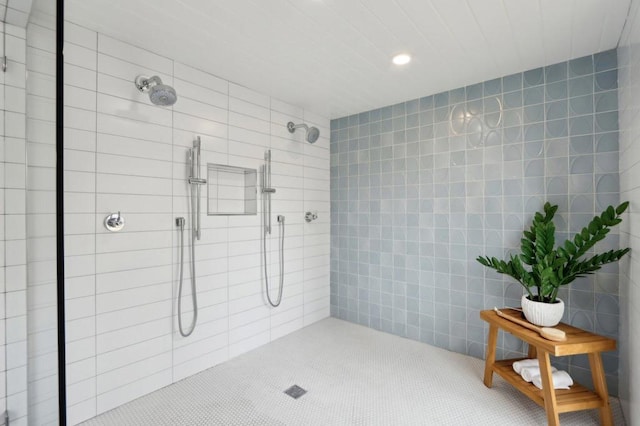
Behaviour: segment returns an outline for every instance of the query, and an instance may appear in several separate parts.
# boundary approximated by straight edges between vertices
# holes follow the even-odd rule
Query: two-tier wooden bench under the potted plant
[[[501,309],[507,315],[522,318],[521,312],[514,309]],[[559,413],[580,411],[597,408],[600,412],[600,424],[613,425],[611,406],[609,405],[609,393],[602,368],[601,352],[611,351],[616,348],[614,339],[599,336],[567,324],[560,323],[556,328],[567,333],[565,342],[552,342],[546,340],[532,330],[515,324],[505,318],[501,318],[493,310],[480,312],[480,318],[489,323],[489,340],[487,343],[487,360],[484,368],[484,384],[491,387],[493,373],[498,373],[503,379],[512,384],[520,392],[528,396],[536,404],[544,407],[547,412],[549,425],[559,425]],[[529,345],[529,358],[537,357],[540,361],[540,375],[542,378],[542,390],[531,383],[525,382],[522,377],[513,371],[512,364],[523,358],[496,361],[496,344],[498,342],[498,330],[502,329],[527,342]],[[575,383],[571,389],[554,389],[551,379],[551,363],[549,356],[566,356],[587,354],[591,366],[591,376],[595,392]]]

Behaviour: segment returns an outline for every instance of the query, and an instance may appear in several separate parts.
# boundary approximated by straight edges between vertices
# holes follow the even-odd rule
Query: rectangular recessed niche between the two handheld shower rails
[[[256,169],[208,163],[207,214],[257,214],[256,184]]]

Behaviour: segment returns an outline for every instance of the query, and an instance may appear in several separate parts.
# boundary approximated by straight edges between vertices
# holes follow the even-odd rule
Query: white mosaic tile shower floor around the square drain
[[[544,409],[484,362],[328,318],[114,410],[85,426],[543,425]],[[293,399],[293,385],[307,393]],[[614,421],[624,425],[612,398]],[[597,425],[596,410],[560,414]]]

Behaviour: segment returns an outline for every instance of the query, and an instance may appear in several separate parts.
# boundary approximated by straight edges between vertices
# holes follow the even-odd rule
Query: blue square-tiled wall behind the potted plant
[[[616,67],[612,50],[333,120],[332,315],[483,358],[479,311],[523,290],[475,258],[518,250],[545,201],[558,239],[619,202]],[[617,283],[611,265],[564,289],[563,321],[617,338]],[[501,334],[499,356],[525,349]],[[591,381],[585,358],[555,365]]]

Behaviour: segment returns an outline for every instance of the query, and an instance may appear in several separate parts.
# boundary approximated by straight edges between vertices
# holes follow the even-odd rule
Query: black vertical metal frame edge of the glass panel
[[[67,424],[66,338],[64,313],[64,0],[56,0],[56,259],[58,305],[58,416]]]

